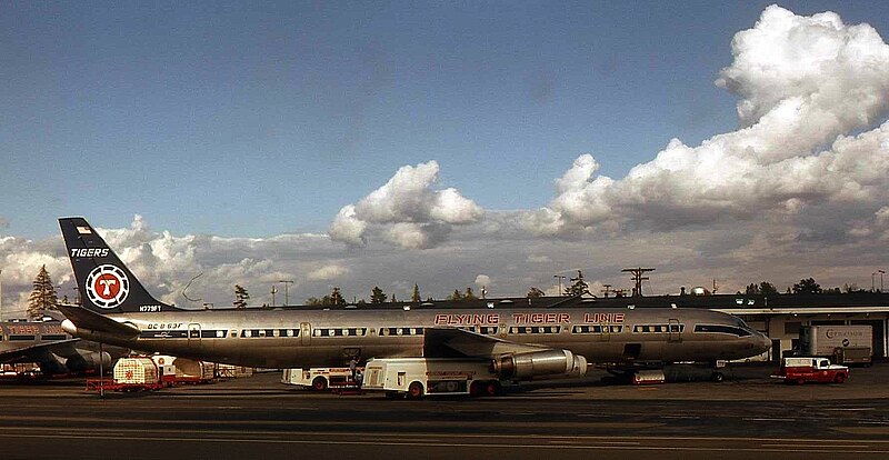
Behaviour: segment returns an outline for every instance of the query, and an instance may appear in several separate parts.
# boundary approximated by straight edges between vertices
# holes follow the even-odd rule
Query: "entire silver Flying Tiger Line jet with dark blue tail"
[[[541,308],[530,300],[482,309],[181,309],[154,299],[86,219],[59,224],[82,299],[59,307],[62,328],[136,350],[261,368],[470,357],[490,359],[503,379],[530,380],[583,374],[588,361],[716,366],[771,347],[741,319],[701,309]]]

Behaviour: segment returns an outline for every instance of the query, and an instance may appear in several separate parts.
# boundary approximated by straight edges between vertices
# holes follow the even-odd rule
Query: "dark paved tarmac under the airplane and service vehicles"
[[[280,372],[156,392],[0,381],[4,459],[889,458],[889,364],[788,386],[773,364],[652,386],[530,382],[493,398],[390,400],[281,384]]]

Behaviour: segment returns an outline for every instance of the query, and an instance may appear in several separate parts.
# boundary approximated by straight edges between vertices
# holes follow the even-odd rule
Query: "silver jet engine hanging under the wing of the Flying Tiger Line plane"
[[[587,358],[568,350],[507,354],[493,360],[493,370],[501,379],[582,377],[587,374]]]

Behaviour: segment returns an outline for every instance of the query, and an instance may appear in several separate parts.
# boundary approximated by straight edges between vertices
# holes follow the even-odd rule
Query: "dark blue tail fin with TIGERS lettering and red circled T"
[[[84,308],[100,313],[178,310],[151,297],[87,219],[61,218],[59,227]]]

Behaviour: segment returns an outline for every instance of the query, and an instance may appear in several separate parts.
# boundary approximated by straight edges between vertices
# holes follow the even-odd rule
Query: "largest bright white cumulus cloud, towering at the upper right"
[[[835,13],[768,7],[732,41],[717,86],[739,96],[741,129],[689,147],[672,139],[622,179],[580,156],[556,198],[523,214],[537,234],[798,214],[823,203],[886,202],[889,189],[889,46]],[[855,133],[860,130],[869,131]]]

